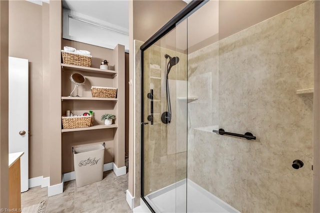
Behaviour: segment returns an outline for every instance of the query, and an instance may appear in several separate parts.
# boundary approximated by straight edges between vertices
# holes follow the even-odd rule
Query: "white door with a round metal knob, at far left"
[[[28,60],[9,57],[9,153],[23,151],[21,192],[28,190]]]

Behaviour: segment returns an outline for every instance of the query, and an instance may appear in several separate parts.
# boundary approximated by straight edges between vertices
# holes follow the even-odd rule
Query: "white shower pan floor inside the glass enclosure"
[[[155,212],[240,212],[189,179],[149,193],[145,199]]]

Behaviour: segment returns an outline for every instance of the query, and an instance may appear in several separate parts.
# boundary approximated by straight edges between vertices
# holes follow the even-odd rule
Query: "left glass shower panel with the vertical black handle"
[[[186,116],[179,107],[186,113],[186,106],[177,95],[186,93],[186,54],[176,52],[175,34],[144,51],[143,197],[156,212],[185,212]]]

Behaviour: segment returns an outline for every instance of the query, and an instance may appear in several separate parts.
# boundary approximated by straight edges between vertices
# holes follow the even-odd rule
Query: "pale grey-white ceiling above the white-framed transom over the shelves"
[[[62,6],[129,29],[128,0],[62,0]]]

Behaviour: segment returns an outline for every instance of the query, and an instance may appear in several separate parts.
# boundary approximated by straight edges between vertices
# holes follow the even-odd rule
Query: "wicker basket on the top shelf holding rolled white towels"
[[[91,65],[91,55],[82,55],[82,54],[75,54],[72,52],[66,52],[61,50],[62,54],[62,62],[71,65],[77,66],[87,66],[90,67]]]

